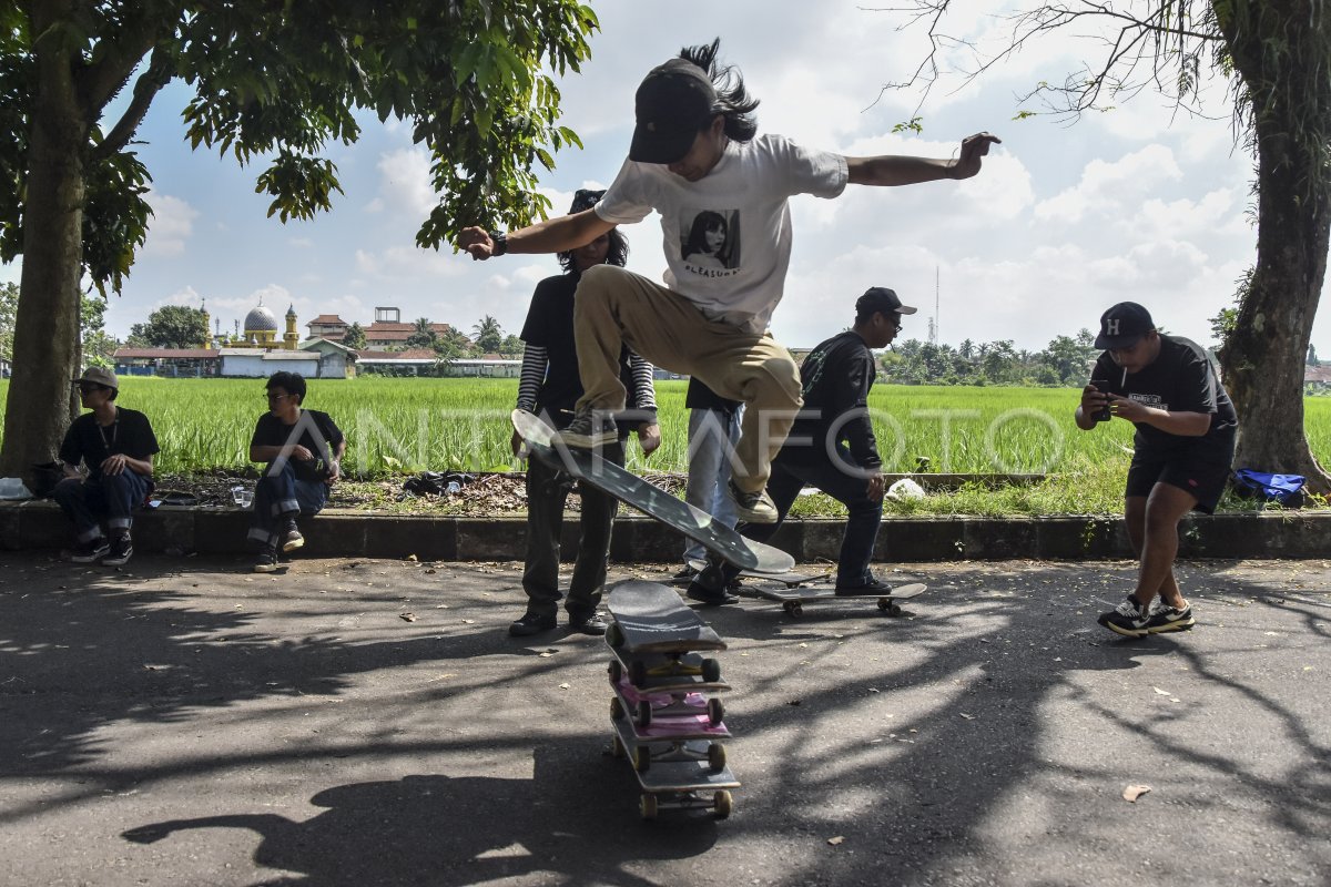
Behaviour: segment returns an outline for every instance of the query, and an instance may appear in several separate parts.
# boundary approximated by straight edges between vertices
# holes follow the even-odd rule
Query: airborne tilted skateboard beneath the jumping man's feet
[[[554,428],[526,410],[512,411],[512,427],[534,459],[566,471],[578,480],[636,508],[648,517],[673,527],[721,560],[743,569],[784,573],[795,559],[779,548],[744,539],[711,515],[659,489],[638,475],[602,459],[592,449],[579,449],[555,442]]]

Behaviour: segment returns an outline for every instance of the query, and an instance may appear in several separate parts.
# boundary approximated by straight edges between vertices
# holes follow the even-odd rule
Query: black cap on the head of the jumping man
[[[673,164],[712,118],[716,88],[707,72],[684,59],[671,59],[652,68],[634,109],[638,125],[628,146],[628,160],[638,164]]]

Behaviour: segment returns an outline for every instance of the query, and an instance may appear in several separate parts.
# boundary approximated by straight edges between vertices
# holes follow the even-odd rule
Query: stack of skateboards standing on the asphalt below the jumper
[[[711,809],[724,819],[729,790],[740,785],[725,766],[723,741],[731,733],[715,696],[729,686],[720,664],[703,653],[724,650],[725,642],[667,585],[620,582],[607,606],[614,621],[606,642],[615,654],[611,751],[634,765],[643,818]]]

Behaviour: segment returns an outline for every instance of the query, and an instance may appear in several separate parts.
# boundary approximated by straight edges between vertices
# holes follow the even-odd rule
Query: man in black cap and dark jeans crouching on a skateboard
[[[914,313],[892,290],[870,287],[855,303],[855,326],[809,352],[800,371],[804,410],[772,460],[768,492],[776,504],[776,523],[740,528],[753,541],[772,539],[805,484],[836,499],[848,512],[837,557],[837,594],[892,592],[869,570],[884,492],[882,460],[869,422],[869,390],[878,375],[872,348],[888,347],[901,331],[901,315]],[[727,588],[739,572],[712,559],[687,593],[704,604],[737,601]]]

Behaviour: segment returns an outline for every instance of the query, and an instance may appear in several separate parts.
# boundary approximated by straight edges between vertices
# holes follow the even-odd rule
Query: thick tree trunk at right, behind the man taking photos
[[[1251,286],[1225,343],[1225,386],[1239,414],[1235,465],[1304,475],[1310,491],[1327,495],[1331,476],[1314,457],[1303,428],[1303,374],[1331,241],[1324,169],[1331,88],[1310,60],[1320,56],[1319,45],[1331,35],[1326,16],[1300,0],[1268,5],[1263,13],[1252,20],[1256,28],[1231,44],[1252,96],[1258,241]],[[1282,20],[1296,24],[1260,33]],[[1288,52],[1263,52],[1268,41],[1287,41]]]

